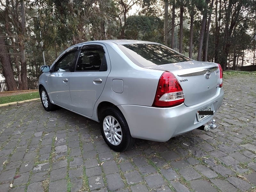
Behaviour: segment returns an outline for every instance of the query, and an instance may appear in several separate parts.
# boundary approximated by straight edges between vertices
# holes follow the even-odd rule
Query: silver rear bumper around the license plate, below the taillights
[[[132,137],[164,142],[206,124],[217,113],[223,97],[223,89],[219,88],[217,94],[211,99],[189,107],[184,103],[172,108],[138,105],[119,105],[117,107],[123,113]],[[209,105],[213,108],[213,116],[208,116],[198,122],[196,112]]]

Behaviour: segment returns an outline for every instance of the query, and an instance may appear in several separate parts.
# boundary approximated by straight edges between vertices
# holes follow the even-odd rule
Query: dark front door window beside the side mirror
[[[60,60],[57,61],[55,64],[54,71],[55,72],[69,72],[74,60],[74,57],[76,55],[76,51],[68,52],[66,55],[64,55]]]

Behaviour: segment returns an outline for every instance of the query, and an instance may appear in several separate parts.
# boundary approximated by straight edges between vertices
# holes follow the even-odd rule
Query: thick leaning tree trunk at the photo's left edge
[[[8,91],[17,91],[17,84],[15,82],[12,65],[10,62],[10,55],[6,47],[5,39],[0,35],[0,61],[3,67],[3,74]]]

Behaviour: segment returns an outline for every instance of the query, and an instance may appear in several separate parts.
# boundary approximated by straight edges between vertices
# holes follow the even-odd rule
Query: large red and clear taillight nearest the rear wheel
[[[152,106],[173,107],[184,102],[184,92],[176,77],[165,71],[159,79],[156,97]]]

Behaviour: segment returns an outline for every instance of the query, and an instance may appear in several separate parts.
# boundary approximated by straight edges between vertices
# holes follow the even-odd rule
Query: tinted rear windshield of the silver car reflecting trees
[[[160,44],[119,45],[124,54],[140,67],[191,61],[184,55]]]

